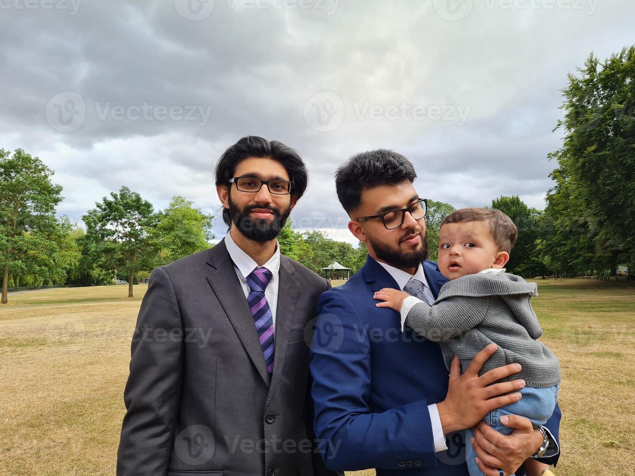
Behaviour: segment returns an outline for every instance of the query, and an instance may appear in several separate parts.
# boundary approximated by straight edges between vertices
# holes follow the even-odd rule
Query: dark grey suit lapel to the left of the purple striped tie
[[[251,361],[258,369],[262,380],[269,385],[269,373],[265,357],[262,355],[262,347],[260,347],[253,316],[247,300],[244,298],[243,288],[238,281],[233,262],[227,253],[224,239],[210,250],[210,258],[207,263],[210,265],[210,272],[206,277],[207,281],[224,308],[229,321],[234,326]]]

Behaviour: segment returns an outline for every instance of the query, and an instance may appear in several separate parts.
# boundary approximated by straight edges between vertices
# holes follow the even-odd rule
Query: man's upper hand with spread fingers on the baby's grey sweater
[[[448,394],[443,402],[437,404],[443,434],[447,435],[450,432],[471,428],[491,410],[518,402],[521,399],[520,393],[509,392],[525,387],[524,380],[490,385],[501,378],[521,371],[520,364],[497,367],[479,377],[478,373],[481,367],[496,350],[496,344],[490,344],[481,350],[474,356],[464,374],[461,374],[461,364],[458,358],[454,357],[452,360]],[[509,395],[505,395],[505,393],[509,393]]]

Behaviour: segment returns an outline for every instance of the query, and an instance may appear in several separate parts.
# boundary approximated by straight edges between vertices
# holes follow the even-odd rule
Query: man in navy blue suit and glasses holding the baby
[[[404,327],[398,312],[375,307],[379,289],[409,289],[431,303],[447,281],[426,260],[427,205],[415,178],[410,161],[391,150],[355,155],[337,170],[349,230],[366,244],[368,258],[318,303],[311,391],[324,461],[335,470],[376,468],[380,476],[466,476],[465,444],[474,444],[486,475],[540,475],[558,461],[558,406],[542,428],[511,416],[509,436],[479,424],[492,409],[519,399],[522,380],[496,382],[520,366],[479,376],[497,352],[490,345],[463,374],[455,358],[448,378],[437,343]],[[474,425],[474,442],[464,442],[463,430]]]

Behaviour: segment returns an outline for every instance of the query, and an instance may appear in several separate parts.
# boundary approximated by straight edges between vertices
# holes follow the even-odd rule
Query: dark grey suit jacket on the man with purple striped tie
[[[281,256],[271,383],[221,241],[155,268],[132,341],[119,476],[335,475],[316,450],[309,346],[325,279]]]

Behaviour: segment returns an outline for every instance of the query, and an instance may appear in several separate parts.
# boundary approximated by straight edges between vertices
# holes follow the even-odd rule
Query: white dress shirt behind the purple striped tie
[[[247,276],[251,274],[253,270],[256,268],[260,268],[258,263],[251,258],[247,253],[245,253],[232,239],[232,235],[230,232],[227,232],[225,235],[225,247],[227,247],[227,253],[229,253],[229,257],[232,261],[234,261],[234,265],[236,265],[237,271],[236,275],[238,280],[240,281],[241,286],[243,287],[244,297],[249,296],[251,288],[247,282]],[[276,329],[276,310],[277,310],[277,292],[278,286],[280,284],[279,279],[279,271],[280,271],[280,246],[276,240],[276,253],[274,253],[269,261],[267,261],[263,267],[267,268],[271,271],[271,281],[265,288],[265,298],[267,298],[267,303],[269,303],[269,308],[271,309],[271,319],[274,323],[274,340],[275,340],[275,329]]]

